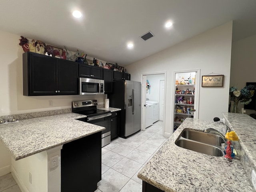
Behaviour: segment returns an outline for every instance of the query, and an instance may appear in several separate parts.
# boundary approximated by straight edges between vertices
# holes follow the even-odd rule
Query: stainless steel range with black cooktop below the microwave
[[[72,112],[86,115],[78,120],[105,127],[102,131],[102,147],[110,144],[111,112],[97,109],[97,100],[73,101]]]

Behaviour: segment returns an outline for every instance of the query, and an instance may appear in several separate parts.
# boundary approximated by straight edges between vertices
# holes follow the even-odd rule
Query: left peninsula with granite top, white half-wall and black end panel
[[[84,117],[66,113],[0,124],[0,140],[12,155],[11,170],[20,188],[29,192],[60,192],[62,147],[70,148],[68,152],[72,147],[94,151],[93,147],[90,148],[93,145],[91,140],[97,144],[98,169],[101,171],[101,131],[105,128],[77,120]],[[83,146],[81,142],[86,142],[87,138],[90,140]],[[68,156],[65,154],[65,159]],[[65,167],[75,165],[77,158],[79,155],[65,160]],[[94,167],[92,164],[87,166]]]

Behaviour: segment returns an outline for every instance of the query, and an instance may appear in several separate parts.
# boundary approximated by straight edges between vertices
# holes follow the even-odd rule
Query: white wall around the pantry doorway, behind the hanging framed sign
[[[223,87],[200,87],[198,115],[199,119],[213,120],[228,111],[231,45],[232,22],[228,22],[126,67],[134,81],[140,81],[143,73],[167,72],[165,132],[172,134],[173,130],[173,71],[201,69],[201,76],[224,74]]]

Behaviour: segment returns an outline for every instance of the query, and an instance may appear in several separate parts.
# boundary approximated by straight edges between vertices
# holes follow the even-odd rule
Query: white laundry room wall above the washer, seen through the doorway
[[[160,96],[160,80],[164,80],[164,74],[157,75],[147,75],[147,80],[149,81],[151,88],[146,94],[146,98],[150,101],[158,101]]]

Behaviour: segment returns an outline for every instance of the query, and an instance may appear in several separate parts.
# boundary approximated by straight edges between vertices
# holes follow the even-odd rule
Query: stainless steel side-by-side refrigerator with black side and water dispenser
[[[141,83],[136,81],[113,82],[108,94],[109,106],[120,108],[119,136],[126,138],[141,129]]]

